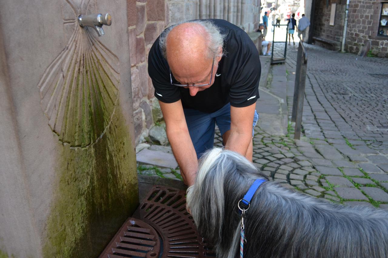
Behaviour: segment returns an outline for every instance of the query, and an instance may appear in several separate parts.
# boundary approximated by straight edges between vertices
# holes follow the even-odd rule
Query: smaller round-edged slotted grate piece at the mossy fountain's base
[[[100,258],[154,258],[159,252],[160,241],[156,231],[141,220],[128,218]]]

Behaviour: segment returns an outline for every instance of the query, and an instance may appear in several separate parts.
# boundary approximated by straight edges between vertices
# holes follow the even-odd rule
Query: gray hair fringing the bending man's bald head
[[[223,41],[225,40],[225,34],[221,34],[220,29],[213,24],[213,22],[209,20],[193,20],[193,21],[184,21],[180,22],[178,24],[172,25],[165,29],[162,34],[160,34],[159,37],[159,46],[161,48],[163,57],[166,58],[166,47],[167,47],[167,36],[170,33],[170,31],[175,28],[175,26],[183,23],[195,23],[201,25],[205,32],[206,35],[205,38],[208,40],[207,41],[207,53],[206,53],[206,58],[208,59],[213,59],[216,57],[222,57],[224,55],[223,51]],[[202,34],[203,31],[198,30],[198,33]],[[222,48],[222,53],[220,53],[220,47]]]

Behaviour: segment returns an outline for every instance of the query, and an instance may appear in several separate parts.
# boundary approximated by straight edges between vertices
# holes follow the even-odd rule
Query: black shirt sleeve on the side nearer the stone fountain
[[[170,67],[159,47],[159,38],[152,45],[148,55],[148,74],[155,88],[155,97],[164,103],[180,100],[178,87],[171,85]]]

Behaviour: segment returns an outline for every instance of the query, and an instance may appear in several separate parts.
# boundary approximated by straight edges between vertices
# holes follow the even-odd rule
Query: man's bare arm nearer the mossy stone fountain
[[[178,162],[183,181],[188,186],[195,182],[198,170],[197,155],[187,129],[182,102],[163,103],[159,101],[166,122],[166,132],[175,159]]]

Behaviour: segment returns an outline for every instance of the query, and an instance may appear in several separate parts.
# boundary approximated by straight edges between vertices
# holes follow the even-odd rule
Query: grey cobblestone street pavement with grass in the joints
[[[287,62],[282,64],[287,74],[284,101],[289,114],[297,46],[288,47]],[[256,127],[253,163],[285,187],[338,203],[388,209],[388,84],[384,83],[388,80],[388,70],[384,69],[388,60],[359,59],[353,54],[305,46],[308,72],[303,136],[293,139],[291,123],[282,136]],[[270,73],[282,71],[275,68]],[[171,151],[154,146],[149,148]],[[215,146],[222,146],[218,130]],[[179,170],[147,165],[139,167],[139,174],[181,179]]]

